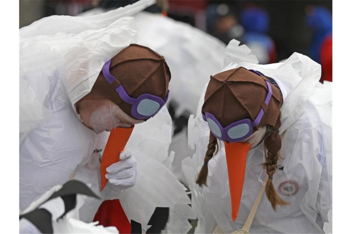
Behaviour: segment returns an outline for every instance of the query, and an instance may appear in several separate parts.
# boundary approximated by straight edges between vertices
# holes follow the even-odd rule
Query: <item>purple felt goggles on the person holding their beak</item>
[[[103,75],[109,84],[112,84],[116,78],[111,75],[110,68],[111,60],[107,61],[103,66]],[[132,105],[131,114],[136,119],[148,119],[156,115],[158,111],[165,105],[169,98],[169,91],[166,94],[165,100],[151,94],[142,94],[138,98],[132,98],[127,94],[124,87],[120,84],[115,91],[120,98]]]

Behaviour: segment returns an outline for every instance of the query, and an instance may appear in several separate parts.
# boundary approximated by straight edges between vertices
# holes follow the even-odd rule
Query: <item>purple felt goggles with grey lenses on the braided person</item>
[[[254,71],[251,71],[251,72],[254,72]],[[256,73],[256,74],[259,74],[259,73]],[[268,86],[269,91],[268,91],[268,94],[266,95],[264,102],[266,106],[268,106],[272,95],[272,90],[271,90],[270,83],[266,80],[265,82],[266,82],[266,85]],[[219,140],[228,141],[228,142],[239,142],[248,138],[252,134],[253,127],[257,126],[260,123],[260,120],[262,120],[263,115],[264,115],[264,109],[262,107],[257,117],[254,119],[254,121],[251,121],[250,119],[243,119],[243,120],[233,122],[224,128],[221,126],[221,123],[215,118],[213,114],[209,112],[204,114],[202,112],[203,120],[208,122],[210,131],[212,131],[212,133],[216,136],[216,138],[218,138]]]

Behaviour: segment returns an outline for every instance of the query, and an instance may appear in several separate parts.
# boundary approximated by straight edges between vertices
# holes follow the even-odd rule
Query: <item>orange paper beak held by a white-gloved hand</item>
[[[105,178],[106,168],[120,160],[120,153],[124,150],[128,139],[130,139],[133,127],[134,126],[130,128],[117,127],[110,131],[109,139],[101,159],[101,190],[103,190],[108,181],[108,179]]]

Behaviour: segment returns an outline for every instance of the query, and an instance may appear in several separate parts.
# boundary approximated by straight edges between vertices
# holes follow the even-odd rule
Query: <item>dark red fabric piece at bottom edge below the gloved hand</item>
[[[119,199],[103,201],[93,221],[99,221],[99,225],[104,227],[117,227],[119,233],[131,233],[131,223],[128,221]]]

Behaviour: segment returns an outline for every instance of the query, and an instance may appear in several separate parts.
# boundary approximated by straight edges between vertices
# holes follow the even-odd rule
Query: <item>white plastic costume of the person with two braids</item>
[[[323,223],[328,222],[332,209],[332,83],[319,83],[320,65],[307,56],[294,53],[285,62],[258,65],[249,48],[238,45],[235,40],[228,45],[223,71],[240,66],[260,71],[274,78],[283,93],[279,129],[283,159],[278,161],[273,183],[278,195],[291,202],[275,212],[264,195],[250,233],[324,233]],[[209,128],[201,116],[205,90],[196,116],[191,116],[188,123],[189,145],[196,153],[182,161],[182,170],[199,219],[196,233],[213,233],[216,226],[232,233],[242,228],[262,186],[258,180],[265,179],[266,171],[260,166],[263,143],[247,155],[241,204],[233,222],[223,144],[208,163],[208,187],[195,183],[209,142]]]

